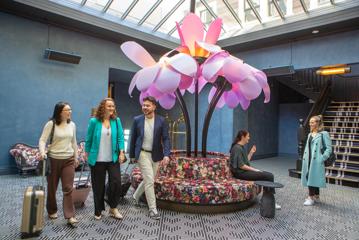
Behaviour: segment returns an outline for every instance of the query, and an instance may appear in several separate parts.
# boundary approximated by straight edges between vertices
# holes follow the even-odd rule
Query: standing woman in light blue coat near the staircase
[[[332,141],[329,133],[323,130],[322,116],[313,116],[309,126],[310,133],[304,149],[301,176],[302,185],[308,187],[309,191],[304,206],[312,206],[319,201],[319,188],[326,187],[324,161],[332,152]]]

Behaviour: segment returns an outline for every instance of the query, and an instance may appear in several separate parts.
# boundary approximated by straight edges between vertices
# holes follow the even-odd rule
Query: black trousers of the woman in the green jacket
[[[108,204],[110,208],[115,208],[120,200],[121,191],[121,170],[119,162],[96,162],[91,167],[91,182],[93,199],[95,203],[95,215],[100,216],[105,210],[105,183],[106,172],[108,173],[109,190]]]

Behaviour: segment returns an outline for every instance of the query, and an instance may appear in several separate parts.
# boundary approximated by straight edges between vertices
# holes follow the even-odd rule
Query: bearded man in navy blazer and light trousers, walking
[[[160,219],[157,211],[154,190],[154,178],[157,173],[159,161],[169,161],[171,143],[168,135],[168,124],[157,114],[156,99],[146,97],[143,99],[143,115],[136,116],[131,128],[130,158],[138,162],[143,181],[136,189],[133,198],[138,203],[145,192],[152,219]]]

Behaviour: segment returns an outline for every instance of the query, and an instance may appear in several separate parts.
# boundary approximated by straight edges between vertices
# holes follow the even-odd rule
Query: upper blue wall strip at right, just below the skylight
[[[266,69],[293,65],[295,69],[359,62],[359,30],[268,48],[238,52],[249,64]]]

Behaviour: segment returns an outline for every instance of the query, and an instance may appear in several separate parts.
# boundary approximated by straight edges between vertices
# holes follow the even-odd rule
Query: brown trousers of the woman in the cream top
[[[72,201],[72,190],[75,176],[75,159],[54,159],[51,161],[51,174],[47,176],[47,201],[46,209],[49,214],[57,212],[56,191],[61,179],[63,192],[63,210],[66,219],[75,215],[75,208]]]

